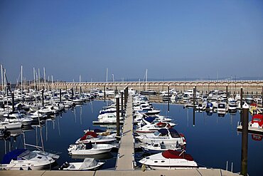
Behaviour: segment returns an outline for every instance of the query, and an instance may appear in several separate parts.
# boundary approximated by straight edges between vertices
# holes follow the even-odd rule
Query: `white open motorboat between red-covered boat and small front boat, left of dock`
[[[104,152],[110,152],[112,147],[113,145],[110,144],[74,144],[68,147],[68,153],[70,155],[97,155]]]

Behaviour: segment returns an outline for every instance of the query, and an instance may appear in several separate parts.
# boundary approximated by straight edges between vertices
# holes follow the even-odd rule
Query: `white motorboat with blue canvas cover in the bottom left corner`
[[[4,155],[0,167],[4,170],[43,170],[54,162],[52,157],[27,149],[16,149]]]

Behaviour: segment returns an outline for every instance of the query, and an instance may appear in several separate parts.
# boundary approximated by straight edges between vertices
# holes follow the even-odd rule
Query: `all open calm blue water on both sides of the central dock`
[[[92,121],[97,120],[97,115],[102,106],[107,105],[104,101],[92,101],[82,107],[68,110],[54,120],[47,120],[43,127],[43,141],[46,151],[59,152],[58,165],[63,162],[79,162],[82,159],[73,159],[68,155],[68,146],[74,144],[88,128],[95,129]],[[178,123],[176,130],[186,136],[186,151],[193,155],[198,164],[206,167],[222,168],[225,170],[228,161],[228,170],[233,162],[233,172],[240,172],[241,158],[241,133],[237,133],[237,121],[240,114],[226,114],[218,117],[217,113],[207,115],[206,113],[195,113],[195,126],[193,126],[193,109],[183,109],[182,105],[170,105],[167,112],[166,104],[154,104],[155,108],[161,110],[162,115],[168,115]],[[251,117],[249,117],[251,118]],[[39,130],[37,131],[39,137]],[[38,138],[38,143],[40,142]],[[36,144],[36,130],[26,132],[26,142]],[[10,143],[10,145],[9,145]],[[0,158],[4,155],[4,140],[0,140]],[[261,175],[263,167],[263,142],[252,140],[249,135],[248,141],[248,172],[249,175]],[[19,135],[6,141],[6,150],[14,150],[23,147],[23,136]],[[110,169],[115,166],[116,152],[111,155],[99,155],[97,159],[106,159],[102,169]]]

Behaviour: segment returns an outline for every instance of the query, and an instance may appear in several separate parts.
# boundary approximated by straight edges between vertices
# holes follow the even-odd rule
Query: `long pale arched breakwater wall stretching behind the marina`
[[[33,88],[31,83],[30,87]],[[188,89],[193,89],[196,86],[200,92],[209,92],[210,90],[227,90],[229,93],[239,93],[240,88],[243,88],[245,94],[259,94],[262,95],[263,80],[261,81],[151,81],[151,82],[60,82],[60,83],[38,83],[38,88],[45,87],[46,89],[70,89],[88,91],[92,88],[105,88],[122,90],[126,86],[134,90],[156,90],[157,92],[174,88],[179,92],[184,92]]]

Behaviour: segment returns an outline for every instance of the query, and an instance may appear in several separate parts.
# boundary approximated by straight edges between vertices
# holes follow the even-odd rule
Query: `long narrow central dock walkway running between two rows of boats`
[[[116,161],[116,170],[134,170],[134,135],[132,117],[132,96],[127,103],[127,118],[124,121],[122,138]]]

